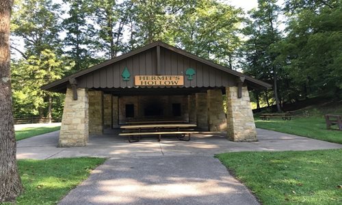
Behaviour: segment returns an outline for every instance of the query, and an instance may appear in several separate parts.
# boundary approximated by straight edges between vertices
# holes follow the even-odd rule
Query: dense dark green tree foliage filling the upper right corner
[[[287,36],[280,61],[300,96],[342,96],[342,3],[285,1]]]

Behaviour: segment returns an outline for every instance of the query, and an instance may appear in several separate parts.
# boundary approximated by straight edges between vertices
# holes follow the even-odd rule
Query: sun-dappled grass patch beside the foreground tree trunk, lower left
[[[88,178],[90,170],[105,159],[73,158],[18,160],[25,193],[18,204],[57,204],[71,189]]]

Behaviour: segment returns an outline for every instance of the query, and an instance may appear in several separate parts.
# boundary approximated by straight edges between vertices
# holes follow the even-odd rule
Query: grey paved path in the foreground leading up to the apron
[[[109,159],[60,204],[259,204],[212,156]]]

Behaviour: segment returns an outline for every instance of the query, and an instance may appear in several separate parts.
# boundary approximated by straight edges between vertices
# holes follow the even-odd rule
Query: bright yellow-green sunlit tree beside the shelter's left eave
[[[27,59],[12,61],[12,87],[14,111],[16,117],[25,118],[27,115],[38,115],[40,109],[44,108],[42,114],[52,118],[52,104],[60,102],[62,96],[45,92],[40,87],[62,78],[65,72],[73,66],[64,55],[56,55],[53,51],[46,49],[39,56],[30,55]],[[55,105],[55,109],[61,107]],[[58,113],[54,113],[60,116]]]

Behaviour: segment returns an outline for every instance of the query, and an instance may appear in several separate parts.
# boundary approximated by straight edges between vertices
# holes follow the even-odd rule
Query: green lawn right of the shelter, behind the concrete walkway
[[[294,117],[292,120],[282,120],[281,118],[261,120],[260,118],[256,117],[255,125],[258,128],[264,128],[267,130],[300,135],[303,137],[310,137],[314,139],[321,139],[334,143],[342,143],[342,131],[327,130],[326,121],[324,120],[324,118]],[[332,128],[337,129],[337,126],[332,126]]]

